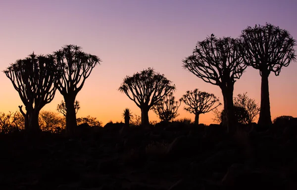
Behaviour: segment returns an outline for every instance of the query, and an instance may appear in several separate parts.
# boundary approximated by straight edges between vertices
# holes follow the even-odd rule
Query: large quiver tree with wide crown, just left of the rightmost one
[[[225,119],[228,132],[236,130],[233,109],[233,90],[247,66],[240,54],[241,40],[238,38],[219,38],[212,34],[203,41],[198,41],[193,55],[183,60],[183,67],[203,81],[218,85],[224,99]]]

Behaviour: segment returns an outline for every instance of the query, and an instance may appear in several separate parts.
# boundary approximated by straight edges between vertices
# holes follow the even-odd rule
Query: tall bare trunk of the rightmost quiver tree
[[[268,70],[261,71],[261,106],[258,125],[271,125],[269,86],[268,86]]]

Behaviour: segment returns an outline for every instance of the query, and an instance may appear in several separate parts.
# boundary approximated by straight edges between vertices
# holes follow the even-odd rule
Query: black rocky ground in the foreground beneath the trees
[[[296,123],[232,137],[220,125],[122,126],[0,136],[0,190],[297,190]]]

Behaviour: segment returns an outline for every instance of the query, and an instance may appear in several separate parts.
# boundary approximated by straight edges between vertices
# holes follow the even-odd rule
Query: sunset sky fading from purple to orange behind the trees
[[[48,54],[65,44],[76,44],[102,60],[78,93],[81,110],[105,124],[123,121],[122,113],[140,109],[117,89],[125,76],[148,67],[172,80],[179,99],[198,88],[223,100],[218,86],[205,83],[182,68],[197,41],[212,33],[217,37],[241,35],[247,26],[269,22],[288,30],[297,39],[296,0],[0,0],[0,70],[33,51]],[[297,117],[297,63],[269,77],[272,119]],[[0,112],[17,111],[22,105],[10,80],[0,73]],[[260,103],[260,76],[248,68],[235,83],[234,95],[247,91]],[[63,97],[43,110],[54,111]],[[182,106],[180,116],[190,117]],[[222,109],[222,107],[220,107]],[[200,115],[200,123],[212,123],[213,114]],[[149,120],[158,120],[149,111]]]

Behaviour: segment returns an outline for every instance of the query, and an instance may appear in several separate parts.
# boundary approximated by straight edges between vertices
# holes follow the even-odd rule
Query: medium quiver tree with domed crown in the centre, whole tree
[[[124,92],[141,109],[141,123],[145,126],[149,124],[149,109],[174,90],[175,85],[170,80],[150,68],[126,76],[119,87],[119,91]]]

